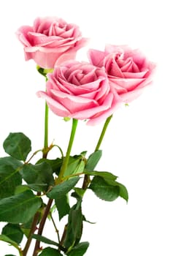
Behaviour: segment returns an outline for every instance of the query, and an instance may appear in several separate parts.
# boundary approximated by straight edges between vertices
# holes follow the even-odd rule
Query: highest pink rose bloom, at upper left
[[[21,26],[16,34],[24,45],[26,61],[34,59],[45,69],[53,69],[57,60],[59,64],[74,59],[88,42],[77,25],[55,17],[36,18],[34,26]]]

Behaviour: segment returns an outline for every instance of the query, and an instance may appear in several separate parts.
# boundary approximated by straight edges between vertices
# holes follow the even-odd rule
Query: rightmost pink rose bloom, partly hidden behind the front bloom
[[[131,50],[127,45],[106,45],[103,51],[90,49],[90,63],[104,67],[109,83],[123,102],[131,102],[141,94],[152,80],[155,64],[148,61],[139,50]]]

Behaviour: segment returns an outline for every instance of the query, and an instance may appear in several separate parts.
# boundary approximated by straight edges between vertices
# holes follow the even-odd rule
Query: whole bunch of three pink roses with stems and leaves
[[[89,62],[76,61],[77,50],[88,39],[82,37],[78,26],[59,18],[36,18],[34,26],[22,26],[17,36],[24,45],[26,60],[34,59],[46,79],[46,90],[37,92],[46,101],[45,139],[43,148],[32,154],[31,140],[22,132],[10,133],[4,140],[8,156],[0,158],[0,221],[7,224],[0,240],[15,246],[20,256],[28,255],[32,239],[36,240],[33,256],[82,256],[89,246],[88,241],[81,241],[83,222],[87,221],[82,212],[86,190],[91,189],[101,200],[123,197],[128,201],[127,189],[117,182],[117,176],[96,170],[96,165],[112,114],[152,82],[155,64],[126,45],[106,45],[104,51],[91,49]],[[49,108],[65,121],[72,119],[66,154],[61,146],[48,143]],[[105,122],[95,150],[72,156],[78,120],[88,125]],[[54,146],[60,154],[49,159]],[[39,151],[42,157],[31,163]],[[69,197],[76,200],[74,205]],[[62,232],[57,228],[55,210],[60,221],[68,216]],[[43,234],[47,217],[53,222],[58,241]],[[26,244],[21,248],[23,237]],[[42,247],[41,242],[48,245]]]

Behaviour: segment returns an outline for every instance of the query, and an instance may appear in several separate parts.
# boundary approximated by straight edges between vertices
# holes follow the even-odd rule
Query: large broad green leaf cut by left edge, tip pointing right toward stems
[[[14,224],[28,222],[40,208],[42,200],[31,190],[0,200],[0,221]]]

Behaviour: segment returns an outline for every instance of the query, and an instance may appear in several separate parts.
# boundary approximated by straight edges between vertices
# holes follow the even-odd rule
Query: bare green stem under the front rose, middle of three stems
[[[69,146],[68,146],[67,151],[66,151],[66,157],[63,160],[63,165],[61,166],[61,171],[58,175],[57,184],[59,184],[61,182],[61,180],[63,178],[63,174],[66,170],[67,165],[68,165],[69,156],[70,156],[70,152],[72,150],[72,144],[73,144],[73,141],[74,141],[74,135],[75,135],[75,132],[76,132],[77,124],[78,124],[78,120],[73,118],[72,119],[72,132],[71,132],[70,139],[69,139]]]

